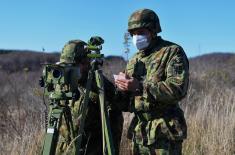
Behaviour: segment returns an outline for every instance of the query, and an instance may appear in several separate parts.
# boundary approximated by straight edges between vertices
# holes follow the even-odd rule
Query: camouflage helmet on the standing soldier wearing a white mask
[[[128,32],[137,28],[147,28],[154,33],[161,32],[157,14],[150,9],[140,9],[131,14],[128,20]]]

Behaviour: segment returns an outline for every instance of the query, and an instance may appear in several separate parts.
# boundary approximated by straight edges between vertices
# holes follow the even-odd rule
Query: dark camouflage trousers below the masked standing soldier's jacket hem
[[[168,139],[157,139],[149,146],[132,142],[133,155],[181,155],[182,141],[169,141]]]

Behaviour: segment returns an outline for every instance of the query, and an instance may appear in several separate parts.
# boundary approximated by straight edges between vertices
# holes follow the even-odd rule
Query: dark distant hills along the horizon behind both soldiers
[[[59,60],[60,53],[42,53],[24,50],[1,50],[0,49],[0,70],[8,72],[20,71],[28,68],[30,71],[41,68],[41,63],[54,63]],[[105,65],[121,63],[124,58],[119,56],[106,57]],[[235,70],[235,54],[232,53],[211,53],[190,58],[190,70],[192,72],[204,73],[215,69]],[[232,75],[235,77],[235,75]]]

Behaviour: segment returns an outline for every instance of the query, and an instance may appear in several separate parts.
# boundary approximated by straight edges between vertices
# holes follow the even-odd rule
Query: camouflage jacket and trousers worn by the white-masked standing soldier
[[[133,56],[126,73],[142,83],[141,91],[130,105],[137,120],[129,129],[135,154],[137,150],[139,154],[174,154],[170,151],[173,147],[181,150],[187,126],[178,101],[186,95],[189,77],[183,49],[155,37],[147,49]],[[162,153],[151,153],[159,150]]]

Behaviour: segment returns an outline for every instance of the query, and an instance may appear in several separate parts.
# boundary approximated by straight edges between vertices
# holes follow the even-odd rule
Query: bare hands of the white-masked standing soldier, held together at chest
[[[125,73],[119,73],[122,78],[115,79],[115,85],[121,91],[131,91],[136,92],[140,88],[140,82],[133,77],[129,77]]]

